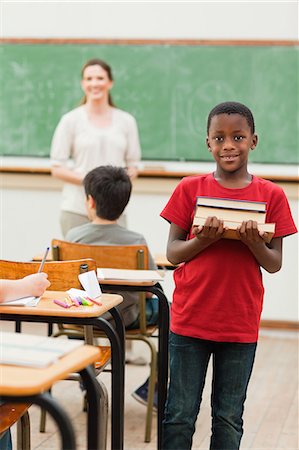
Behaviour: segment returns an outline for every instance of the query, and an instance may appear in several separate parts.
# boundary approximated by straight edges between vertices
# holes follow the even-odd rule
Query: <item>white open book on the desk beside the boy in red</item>
[[[123,281],[163,281],[163,277],[157,270],[129,270],[129,269],[98,269],[98,279],[123,280]]]

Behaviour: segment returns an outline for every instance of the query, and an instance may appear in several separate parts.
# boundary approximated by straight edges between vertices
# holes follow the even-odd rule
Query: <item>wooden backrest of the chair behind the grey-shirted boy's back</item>
[[[146,245],[87,245],[53,239],[52,253],[53,259],[57,261],[92,258],[97,267],[148,269]]]

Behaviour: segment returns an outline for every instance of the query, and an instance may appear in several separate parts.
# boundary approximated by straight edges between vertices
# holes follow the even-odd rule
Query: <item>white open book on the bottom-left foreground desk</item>
[[[84,341],[58,339],[25,333],[1,332],[0,363],[16,366],[47,367]]]

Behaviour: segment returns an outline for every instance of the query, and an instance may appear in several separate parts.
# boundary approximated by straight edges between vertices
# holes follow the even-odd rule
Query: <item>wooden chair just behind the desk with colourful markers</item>
[[[39,269],[39,262],[20,262],[20,261],[5,261],[0,260],[0,277],[8,280],[15,280],[23,278],[32,273],[36,273]],[[48,274],[48,279],[51,286],[48,288],[52,291],[66,291],[70,288],[82,289],[78,275],[89,270],[96,270],[96,262],[91,258],[75,259],[68,261],[51,261],[46,262],[43,271]],[[91,343],[90,339],[92,333],[90,327],[84,327],[83,337],[86,338],[87,343]],[[108,365],[111,360],[110,346],[98,346],[101,351],[100,359],[95,363],[96,374],[98,375]],[[76,376],[71,376],[70,379],[78,379]],[[103,420],[101,426],[103,427],[103,439],[106,439],[107,415],[108,415],[108,401],[105,386],[100,383],[101,389],[101,408],[103,412]],[[45,431],[46,415],[42,410],[40,431]],[[105,430],[104,430],[105,429]],[[103,444],[103,448],[105,447]]]

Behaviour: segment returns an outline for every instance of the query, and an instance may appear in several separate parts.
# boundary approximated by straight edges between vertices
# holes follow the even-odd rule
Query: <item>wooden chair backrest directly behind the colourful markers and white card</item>
[[[39,269],[40,262],[20,262],[0,260],[0,278],[17,280]],[[78,275],[89,270],[96,270],[96,262],[90,258],[72,261],[46,262],[43,272],[48,274],[51,282],[49,290],[64,291],[70,288],[82,289]]]

